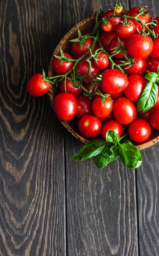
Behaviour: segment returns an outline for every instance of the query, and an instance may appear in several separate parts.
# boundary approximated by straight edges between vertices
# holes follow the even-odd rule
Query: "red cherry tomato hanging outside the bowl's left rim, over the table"
[[[42,74],[35,74],[28,80],[26,88],[30,95],[42,96],[48,92],[50,85],[44,80]]]

